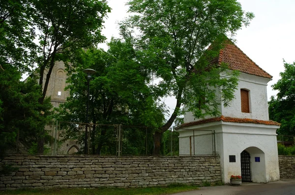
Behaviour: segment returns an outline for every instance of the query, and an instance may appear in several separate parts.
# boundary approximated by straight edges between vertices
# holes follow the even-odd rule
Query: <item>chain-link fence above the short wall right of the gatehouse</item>
[[[278,135],[277,143],[279,155],[295,155],[295,136]]]

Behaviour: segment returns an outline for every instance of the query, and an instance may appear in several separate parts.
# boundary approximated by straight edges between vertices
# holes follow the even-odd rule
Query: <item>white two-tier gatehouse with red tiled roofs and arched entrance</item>
[[[231,175],[256,183],[279,180],[276,130],[280,124],[269,121],[266,92],[272,76],[232,43],[220,50],[218,59],[240,71],[236,98],[228,107],[220,105],[220,117],[198,120],[187,112],[177,127],[179,155],[212,150],[220,156],[224,183],[230,182]]]

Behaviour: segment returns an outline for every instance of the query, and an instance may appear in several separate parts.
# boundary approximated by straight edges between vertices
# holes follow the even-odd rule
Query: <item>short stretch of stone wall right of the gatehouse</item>
[[[295,156],[279,156],[280,179],[295,178]]]

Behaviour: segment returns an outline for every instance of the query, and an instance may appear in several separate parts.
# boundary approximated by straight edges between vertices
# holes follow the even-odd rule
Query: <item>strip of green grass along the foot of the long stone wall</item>
[[[152,188],[65,188],[46,190],[9,190],[0,191],[0,195],[170,195],[179,192],[197,190],[197,186],[171,184],[167,187]]]

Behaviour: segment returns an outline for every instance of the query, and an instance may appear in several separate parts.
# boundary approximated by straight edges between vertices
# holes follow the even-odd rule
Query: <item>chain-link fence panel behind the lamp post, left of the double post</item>
[[[118,155],[119,125],[57,122],[53,155]]]

